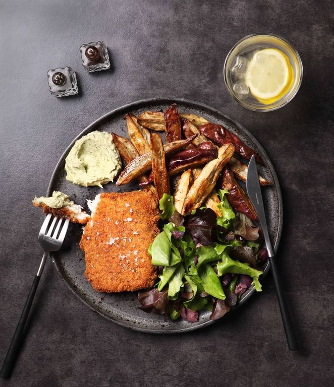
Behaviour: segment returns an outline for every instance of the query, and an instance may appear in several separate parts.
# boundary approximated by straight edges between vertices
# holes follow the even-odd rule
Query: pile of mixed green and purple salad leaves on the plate
[[[228,190],[216,193],[220,217],[205,207],[181,215],[173,196],[163,194],[162,231],[148,250],[159,279],[153,289],[139,292],[143,310],[194,322],[207,309],[210,319],[218,319],[251,285],[261,291],[259,267],[267,259],[261,230],[232,209]]]

